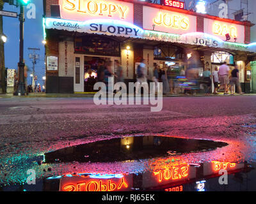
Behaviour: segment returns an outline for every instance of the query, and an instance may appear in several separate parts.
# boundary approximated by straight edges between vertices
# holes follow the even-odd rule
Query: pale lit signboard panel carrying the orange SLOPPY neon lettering
[[[125,19],[131,10],[132,4],[122,3],[118,1],[99,1],[99,0],[60,0],[61,18],[72,19],[72,17],[80,18],[86,15],[93,17],[119,17]],[[78,17],[80,16],[80,17]],[[87,18],[86,17],[86,18]]]

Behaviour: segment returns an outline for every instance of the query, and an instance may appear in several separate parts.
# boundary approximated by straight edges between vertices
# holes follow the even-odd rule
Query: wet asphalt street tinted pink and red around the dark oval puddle
[[[40,95],[42,96],[42,95]],[[74,95],[72,95],[74,96]],[[227,142],[211,152],[179,156],[191,162],[256,160],[256,96],[163,98],[150,105],[95,105],[93,98],[12,97],[0,99],[0,183],[72,171],[130,172],[145,163],[38,164],[45,152],[132,135],[168,135]],[[104,147],[102,147],[104,148]]]

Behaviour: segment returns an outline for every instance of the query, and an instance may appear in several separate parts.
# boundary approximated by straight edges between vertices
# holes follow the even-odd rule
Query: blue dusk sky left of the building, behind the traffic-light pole
[[[36,18],[29,19],[27,13],[29,9],[24,8],[25,24],[24,24],[24,61],[28,68],[32,71],[32,61],[29,59],[29,53],[32,53],[28,48],[40,48],[36,51],[40,55],[39,61],[35,65],[35,75],[38,76],[38,83],[42,84],[42,77],[45,75],[44,55],[45,48],[43,40],[42,16],[44,14],[43,1],[31,0],[31,3],[36,5]],[[4,4],[5,11],[13,11],[20,13],[19,7]],[[8,37],[4,44],[5,67],[17,69],[19,62],[19,18],[3,17],[3,33]],[[31,84],[31,77],[28,71],[28,84]]]

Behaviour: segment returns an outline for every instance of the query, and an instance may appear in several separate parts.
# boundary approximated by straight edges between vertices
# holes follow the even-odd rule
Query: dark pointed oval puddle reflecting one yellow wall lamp
[[[127,136],[66,147],[45,154],[45,163],[115,162],[207,151],[228,143],[170,136]]]

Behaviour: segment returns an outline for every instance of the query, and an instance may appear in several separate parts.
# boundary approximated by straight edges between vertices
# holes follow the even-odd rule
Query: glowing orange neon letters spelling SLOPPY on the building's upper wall
[[[113,17],[119,15],[121,19],[127,16],[128,6],[117,4],[115,1],[98,1],[98,0],[61,0],[61,8],[76,14],[99,15]]]

